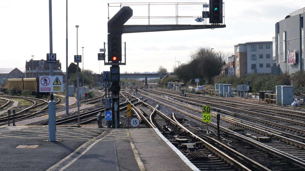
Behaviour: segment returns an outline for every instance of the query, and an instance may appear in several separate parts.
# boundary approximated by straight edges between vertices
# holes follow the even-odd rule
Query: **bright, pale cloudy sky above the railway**
[[[78,54],[84,46],[84,69],[95,73],[109,70],[97,60],[99,48],[107,42],[108,5],[114,1],[68,0],[68,64],[76,55],[76,28]],[[115,1],[156,2],[156,1]],[[160,1],[159,1],[160,2]],[[188,2],[171,1],[166,2]],[[192,2],[207,2],[192,1]],[[127,65],[120,72],[153,72],[162,65],[172,71],[174,60],[185,63],[197,48],[207,46],[214,50],[233,52],[233,45],[253,41],[272,41],[274,25],[290,12],[305,7],[304,0],[224,0],[225,24],[221,29],[199,29],[166,32],[127,33]],[[134,16],[147,16],[147,6],[130,6]],[[119,10],[111,7],[110,18]],[[202,5],[180,5],[179,15],[200,16]],[[0,68],[25,67],[26,60],[46,59],[49,53],[48,0],[0,1]],[[66,1],[52,1],[53,53],[57,54],[62,70],[66,71]],[[155,5],[150,16],[174,16],[175,5]],[[179,19],[179,24],[203,24],[192,19]],[[148,24],[147,19],[130,19],[126,24]],[[175,24],[175,19],[151,19],[150,24]],[[209,23],[208,23],[209,24]],[[178,65],[178,64],[177,64]],[[82,67],[82,63],[80,63]],[[100,66],[100,68],[99,68]]]

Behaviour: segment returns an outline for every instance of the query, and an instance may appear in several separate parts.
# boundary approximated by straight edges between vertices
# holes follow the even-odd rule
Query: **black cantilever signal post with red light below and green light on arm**
[[[223,1],[209,0],[210,13],[205,15],[205,18],[210,18],[212,25],[124,25],[133,15],[133,11],[129,6],[123,6],[109,21],[108,21],[108,62],[104,61],[104,65],[110,67],[110,88],[112,92],[112,125],[111,128],[118,128],[120,123],[120,65],[122,63],[122,34],[135,32],[158,32],[170,30],[190,30],[190,29],[214,29],[224,28],[226,25],[220,25],[223,22]],[[203,11],[203,16],[206,14]],[[126,46],[126,44],[125,44]],[[104,43],[105,48],[105,43]],[[126,54],[126,49],[125,49]],[[98,60],[105,60],[105,55],[98,53]],[[210,108],[209,108],[210,109]],[[109,116],[110,117],[110,116]],[[210,118],[210,116],[209,116]],[[208,119],[208,118],[206,118]],[[210,119],[208,119],[210,120]],[[208,122],[208,121],[206,121]],[[107,128],[110,128],[108,125]]]

